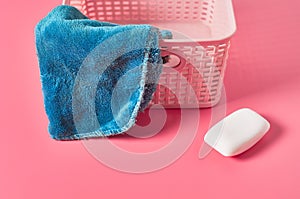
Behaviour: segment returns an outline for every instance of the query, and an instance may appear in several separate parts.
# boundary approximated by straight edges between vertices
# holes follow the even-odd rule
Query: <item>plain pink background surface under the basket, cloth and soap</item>
[[[2,2],[0,198],[299,198],[300,2],[233,3],[238,31],[225,79],[227,112],[252,108],[270,121],[270,132],[236,158],[213,151],[199,160],[210,115],[202,110],[185,154],[167,168],[137,175],[102,165],[81,142],[49,138],[33,29],[60,1]],[[116,143],[160,148],[176,134],[179,114],[169,111],[173,125],[151,139]]]

